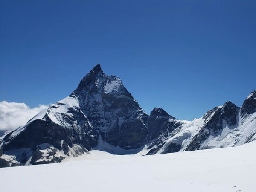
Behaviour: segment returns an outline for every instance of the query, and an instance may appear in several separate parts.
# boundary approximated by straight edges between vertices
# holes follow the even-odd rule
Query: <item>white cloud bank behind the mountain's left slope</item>
[[[25,125],[29,119],[47,108],[47,105],[38,105],[29,108],[25,103],[0,102],[0,130],[14,130]]]

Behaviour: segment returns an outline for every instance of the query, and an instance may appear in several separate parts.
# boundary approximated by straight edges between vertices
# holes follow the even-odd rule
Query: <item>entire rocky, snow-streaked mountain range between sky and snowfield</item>
[[[160,154],[237,146],[256,138],[256,91],[180,121],[160,108],[146,114],[116,76],[96,65],[70,96],[0,137],[0,167],[61,162],[93,149]],[[121,152],[120,152],[121,151]]]

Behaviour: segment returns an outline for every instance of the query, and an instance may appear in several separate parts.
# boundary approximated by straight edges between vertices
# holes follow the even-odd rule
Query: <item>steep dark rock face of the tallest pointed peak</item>
[[[122,80],[107,76],[96,65],[73,92],[79,105],[102,140],[125,149],[141,147],[148,130],[147,116],[123,86]]]

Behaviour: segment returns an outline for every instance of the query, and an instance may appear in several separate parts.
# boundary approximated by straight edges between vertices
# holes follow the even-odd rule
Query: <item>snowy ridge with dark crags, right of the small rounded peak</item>
[[[180,126],[167,137],[166,133],[161,134],[157,142],[149,145],[148,154],[233,147],[256,140],[256,91],[250,93],[241,108],[225,102],[199,119],[176,120],[177,123]]]

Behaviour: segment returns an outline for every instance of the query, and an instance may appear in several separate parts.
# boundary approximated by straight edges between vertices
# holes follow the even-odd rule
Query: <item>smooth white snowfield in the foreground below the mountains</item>
[[[90,151],[64,163],[0,168],[1,192],[255,192],[256,142],[149,156]],[[76,161],[74,161],[76,160]]]

